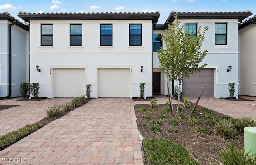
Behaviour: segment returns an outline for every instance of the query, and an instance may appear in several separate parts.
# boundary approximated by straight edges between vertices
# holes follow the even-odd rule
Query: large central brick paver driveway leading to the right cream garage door
[[[2,164],[20,158],[23,164],[143,165],[132,99],[91,100],[0,151],[0,157]]]

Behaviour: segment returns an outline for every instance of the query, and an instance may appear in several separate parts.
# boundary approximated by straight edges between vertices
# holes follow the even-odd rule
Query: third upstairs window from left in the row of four
[[[100,25],[100,45],[101,46],[112,46],[113,45],[113,35],[112,35],[112,25]]]

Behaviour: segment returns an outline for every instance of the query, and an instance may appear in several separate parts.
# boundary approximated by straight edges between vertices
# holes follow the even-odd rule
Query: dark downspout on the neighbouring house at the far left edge
[[[12,33],[11,33],[11,26],[16,24],[16,21],[12,22],[9,24],[9,94],[5,97],[0,97],[0,98],[8,98],[12,95]]]

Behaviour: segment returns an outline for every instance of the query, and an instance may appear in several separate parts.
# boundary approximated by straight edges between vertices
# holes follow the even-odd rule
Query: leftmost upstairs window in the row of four
[[[41,46],[52,46],[52,25],[41,25]]]

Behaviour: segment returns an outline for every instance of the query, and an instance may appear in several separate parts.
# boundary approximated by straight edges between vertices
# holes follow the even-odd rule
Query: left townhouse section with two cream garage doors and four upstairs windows
[[[89,83],[91,97],[139,97],[142,82],[152,96],[151,34],[159,12],[18,16],[30,24],[30,82],[40,84],[40,97],[84,95]]]

